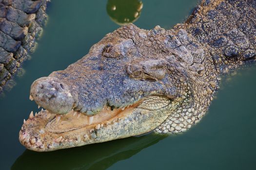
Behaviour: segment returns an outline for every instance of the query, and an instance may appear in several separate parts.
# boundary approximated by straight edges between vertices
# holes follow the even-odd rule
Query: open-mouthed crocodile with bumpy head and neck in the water
[[[206,114],[220,76],[256,61],[256,0],[202,0],[170,30],[134,24],[106,34],[64,70],[37,79],[20,143],[44,152],[154,132]]]

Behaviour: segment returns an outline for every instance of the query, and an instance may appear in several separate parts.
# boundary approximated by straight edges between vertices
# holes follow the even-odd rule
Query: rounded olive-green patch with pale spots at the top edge
[[[139,18],[142,7],[139,0],[108,0],[107,13],[118,25],[127,25]]]

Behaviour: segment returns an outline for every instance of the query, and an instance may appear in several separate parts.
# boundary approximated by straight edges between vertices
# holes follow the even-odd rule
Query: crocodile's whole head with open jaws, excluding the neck
[[[185,79],[167,31],[134,25],[107,34],[78,62],[31,85],[42,109],[30,114],[20,142],[34,151],[53,151],[148,133],[162,124],[183,98]],[[156,38],[162,38],[161,43]],[[155,39],[154,39],[155,38]],[[166,49],[165,49],[166,48]]]

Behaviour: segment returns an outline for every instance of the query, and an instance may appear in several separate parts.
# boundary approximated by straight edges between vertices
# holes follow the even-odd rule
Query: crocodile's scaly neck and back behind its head
[[[198,74],[188,74],[192,76],[191,92],[184,92],[183,87],[186,100],[156,129],[158,133],[178,133],[196,124],[213,100],[218,76],[255,61],[256,0],[204,0],[188,20],[176,25],[174,30],[179,46],[176,49],[191,52],[193,57],[184,61]],[[182,82],[186,83],[179,80],[177,85]]]

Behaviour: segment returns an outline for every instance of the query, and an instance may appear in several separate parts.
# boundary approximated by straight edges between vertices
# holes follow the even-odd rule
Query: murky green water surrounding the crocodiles
[[[73,3],[72,3],[73,2]],[[208,114],[181,135],[130,137],[50,153],[26,150],[19,142],[24,118],[37,105],[32,82],[64,69],[119,26],[106,0],[52,0],[49,21],[17,85],[0,98],[0,170],[255,170],[256,68],[223,79]],[[135,24],[171,28],[188,16],[197,0],[143,0]]]

